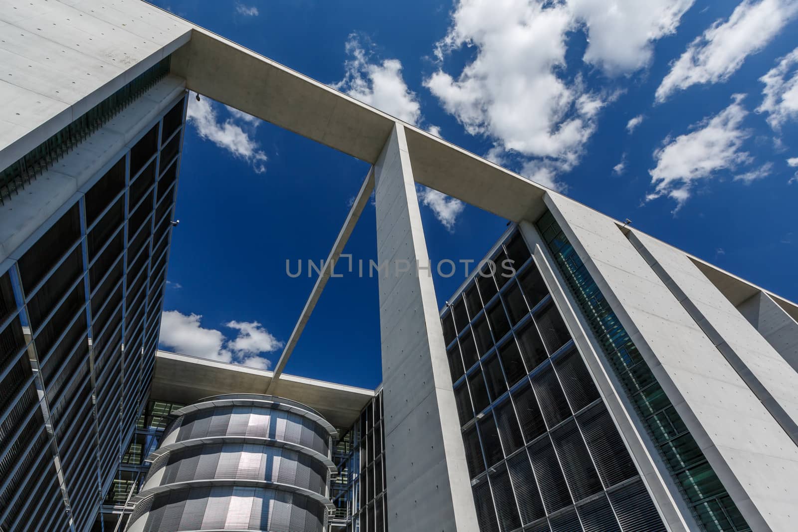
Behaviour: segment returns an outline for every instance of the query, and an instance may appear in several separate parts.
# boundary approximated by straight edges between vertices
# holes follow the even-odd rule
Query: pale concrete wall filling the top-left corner
[[[184,45],[191,28],[140,0],[0,2],[0,168]]]

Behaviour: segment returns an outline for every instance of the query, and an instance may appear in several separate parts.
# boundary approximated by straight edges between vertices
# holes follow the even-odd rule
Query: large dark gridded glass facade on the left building
[[[89,530],[117,471],[155,364],[184,116],[183,97],[0,273],[2,530]]]

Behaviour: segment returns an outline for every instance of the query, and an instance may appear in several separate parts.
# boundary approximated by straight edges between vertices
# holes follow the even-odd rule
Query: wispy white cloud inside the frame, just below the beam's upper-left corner
[[[236,109],[227,106],[225,108],[231,117],[221,121],[215,104],[207,97],[197,101],[196,93],[192,91],[188,94],[186,120],[194,124],[201,138],[210,140],[239,159],[246,160],[255,173],[262,174],[266,171],[266,153],[260,149],[258,141],[242,127],[248,126],[254,130],[259,120]]]

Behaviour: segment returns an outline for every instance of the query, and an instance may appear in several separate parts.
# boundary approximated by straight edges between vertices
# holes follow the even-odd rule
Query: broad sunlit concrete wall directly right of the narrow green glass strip
[[[749,525],[795,530],[792,439],[613,220],[545,201]]]

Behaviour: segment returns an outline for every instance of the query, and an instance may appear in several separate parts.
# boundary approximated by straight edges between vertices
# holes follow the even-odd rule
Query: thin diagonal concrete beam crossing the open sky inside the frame
[[[358,219],[360,219],[361,212],[363,212],[363,207],[365,207],[365,203],[369,201],[369,196],[371,195],[371,191],[374,190],[374,168],[372,167],[369,170],[368,175],[365,176],[365,180],[360,187],[360,191],[358,192],[358,196],[355,198],[354,203],[352,203],[352,208],[350,208],[349,215],[346,215],[346,221],[344,222],[343,227],[341,228],[341,232],[338,233],[338,238],[335,239],[335,243],[333,244],[333,249],[330,250],[330,255],[327,257],[327,260],[324,262],[324,268],[322,268],[322,273],[318,276],[316,280],[316,284],[313,287],[313,290],[310,290],[310,297],[307,298],[307,302],[305,303],[305,308],[302,309],[302,313],[299,315],[299,320],[297,324],[294,325],[294,331],[291,333],[291,336],[288,338],[286,342],[286,347],[282,349],[282,354],[280,355],[279,361],[277,361],[277,365],[275,365],[274,369],[274,376],[271,377],[269,381],[269,385],[266,388],[266,393],[271,393],[274,391],[277,381],[279,380],[280,376],[282,375],[282,370],[286,368],[286,364],[288,364],[288,359],[291,356],[291,353],[294,352],[294,347],[296,347],[297,342],[299,341],[299,337],[302,336],[302,331],[305,330],[305,325],[307,321],[310,319],[310,314],[313,313],[313,309],[318,302],[318,298],[322,295],[322,290],[324,290],[324,286],[327,284],[327,280],[330,278],[330,274],[333,273],[333,268],[335,267],[335,262],[338,262],[338,258],[341,257],[341,252],[344,250],[344,246],[346,246],[346,242],[349,241],[350,234],[354,230],[355,225],[358,223]]]

